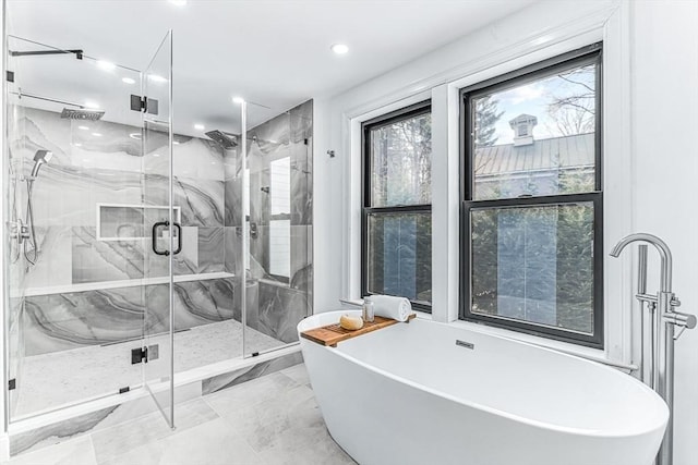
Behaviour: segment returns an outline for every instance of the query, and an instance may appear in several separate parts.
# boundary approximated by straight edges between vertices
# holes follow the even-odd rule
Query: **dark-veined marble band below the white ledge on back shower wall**
[[[173,330],[233,318],[233,279],[176,282]],[[26,355],[136,340],[167,331],[167,284],[27,296]],[[145,303],[148,311],[145,311]]]

